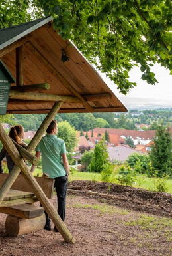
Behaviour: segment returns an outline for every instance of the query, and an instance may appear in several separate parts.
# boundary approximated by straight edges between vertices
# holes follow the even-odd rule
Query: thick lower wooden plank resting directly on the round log
[[[11,207],[1,207],[0,213],[13,215],[22,219],[32,219],[41,216],[44,213],[44,208],[34,205],[20,204]]]

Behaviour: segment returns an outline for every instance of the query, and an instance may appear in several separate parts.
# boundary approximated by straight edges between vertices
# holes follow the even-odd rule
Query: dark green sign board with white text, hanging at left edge
[[[0,61],[0,114],[6,114],[11,83],[15,82],[9,70]]]

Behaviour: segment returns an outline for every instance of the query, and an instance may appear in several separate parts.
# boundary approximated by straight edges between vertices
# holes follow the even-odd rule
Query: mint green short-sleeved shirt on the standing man
[[[46,134],[36,147],[36,151],[42,154],[42,172],[50,178],[65,176],[65,168],[62,164],[62,154],[66,153],[64,140],[56,135]]]

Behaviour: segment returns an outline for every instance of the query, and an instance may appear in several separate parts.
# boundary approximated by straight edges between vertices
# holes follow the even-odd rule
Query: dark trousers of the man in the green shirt
[[[65,220],[65,201],[66,201],[66,193],[67,193],[67,180],[68,176],[56,177],[54,178],[54,188],[56,188],[57,197],[58,197],[58,215],[60,215],[62,221]],[[46,213],[46,225],[50,224],[51,219],[48,217]]]

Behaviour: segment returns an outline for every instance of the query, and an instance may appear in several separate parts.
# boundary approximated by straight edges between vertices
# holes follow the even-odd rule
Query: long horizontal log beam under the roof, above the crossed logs
[[[16,87],[16,86],[15,86]],[[24,87],[24,86],[21,86]],[[22,88],[19,90],[22,90]],[[13,88],[13,87],[11,87]],[[75,96],[63,96],[63,95],[56,95],[56,94],[44,94],[44,93],[35,93],[32,92],[20,92],[19,90],[11,90],[9,93],[10,100],[35,100],[35,101],[63,101],[63,102],[70,102],[70,103],[82,103],[81,100]],[[103,94],[93,94],[93,95],[83,95],[85,100],[87,101],[100,101],[100,100],[108,100],[110,98],[110,94],[103,93]]]

